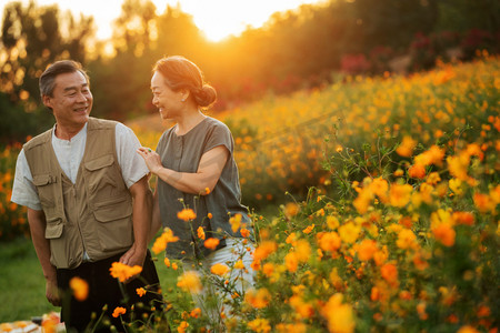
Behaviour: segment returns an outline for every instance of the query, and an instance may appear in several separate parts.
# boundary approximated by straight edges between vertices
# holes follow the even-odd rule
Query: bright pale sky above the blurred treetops
[[[1,1],[3,2],[3,1]],[[10,2],[9,0],[6,1]],[[22,0],[29,3],[29,0]],[[177,6],[193,17],[194,24],[208,39],[219,41],[244,31],[248,26],[261,27],[276,11],[296,9],[302,3],[319,3],[324,0],[152,0],[157,13],[161,14],[167,4]],[[70,10],[74,18],[93,16],[98,27],[97,38],[111,37],[112,21],[120,16],[122,0],[36,0],[40,6],[58,3],[60,10]],[[3,8],[1,8],[3,16]]]

